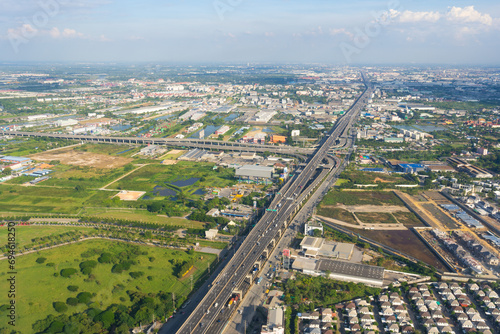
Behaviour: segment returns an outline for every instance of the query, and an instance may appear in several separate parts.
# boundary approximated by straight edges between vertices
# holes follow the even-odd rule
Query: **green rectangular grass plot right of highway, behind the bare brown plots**
[[[404,205],[390,191],[330,191],[322,201],[324,205]]]

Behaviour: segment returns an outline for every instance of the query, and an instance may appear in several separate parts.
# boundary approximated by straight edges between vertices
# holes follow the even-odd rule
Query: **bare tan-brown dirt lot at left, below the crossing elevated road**
[[[132,161],[132,159],[130,158],[75,151],[71,148],[37,153],[31,155],[30,158],[37,161],[59,160],[62,164],[65,165],[87,166],[95,168],[118,168]]]

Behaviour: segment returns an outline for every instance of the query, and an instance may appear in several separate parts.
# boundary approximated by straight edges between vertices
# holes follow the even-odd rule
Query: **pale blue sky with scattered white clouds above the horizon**
[[[2,0],[0,61],[499,65],[500,2]]]

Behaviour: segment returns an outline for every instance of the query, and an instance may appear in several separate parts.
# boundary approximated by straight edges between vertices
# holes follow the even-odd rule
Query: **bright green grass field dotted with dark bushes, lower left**
[[[54,277],[54,273],[59,273],[61,269],[79,269],[79,263],[86,260],[96,260],[99,255],[82,258],[81,254],[89,249],[96,249],[98,252],[106,251],[112,254],[119,254],[129,251],[130,247],[139,247],[140,251],[147,252],[147,255],[139,255],[138,263],[132,265],[130,271],[142,271],[142,277],[133,279],[130,271],[120,274],[111,273],[113,264],[99,263],[92,270],[94,279],[89,279],[88,275],[83,275],[78,271],[71,278]],[[44,264],[38,264],[35,260],[39,257],[47,258]],[[154,258],[151,262],[150,257]],[[92,298],[100,308],[117,303],[130,305],[131,302],[126,291],[140,290],[144,293],[157,293],[159,291],[175,292],[176,299],[182,300],[190,291],[190,280],[188,276],[178,279],[173,276],[173,266],[169,262],[171,259],[185,259],[189,255],[184,251],[174,251],[163,248],[130,246],[125,243],[105,240],[90,240],[73,245],[62,246],[51,250],[40,252],[40,254],[29,254],[17,258],[16,270],[17,281],[17,326],[16,330],[21,333],[31,333],[31,325],[39,319],[45,318],[49,314],[57,314],[52,303],[55,301],[65,302],[69,297],[75,297],[79,292],[95,293]],[[207,264],[216,258],[212,254],[195,253],[195,267],[190,274],[194,276],[196,282],[207,270]],[[54,263],[54,267],[47,266],[46,263]],[[2,263],[4,264],[4,263]],[[149,280],[147,277],[151,276]],[[8,291],[6,272],[0,273],[0,289]],[[119,286],[121,284],[122,286]],[[77,292],[67,289],[69,285],[79,287]],[[120,299],[121,298],[121,299]],[[2,299],[2,301],[7,301]],[[2,302],[3,304],[3,302]],[[88,306],[78,304],[68,306],[67,313],[81,312]],[[1,314],[5,317],[5,314]]]

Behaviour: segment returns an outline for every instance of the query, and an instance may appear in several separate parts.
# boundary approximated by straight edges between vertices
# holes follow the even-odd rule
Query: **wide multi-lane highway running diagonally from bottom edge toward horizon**
[[[324,173],[318,172],[318,167],[327,157],[330,148],[340,141],[346,142],[349,129],[366,105],[371,93],[371,87],[367,86],[348,112],[323,138],[302,171],[296,173],[276,194],[268,211],[250,231],[233,258],[212,282],[211,289],[176,333],[220,333],[223,330],[230,313],[235,308],[234,305],[228,305],[228,301],[236,294],[240,295],[239,298],[244,297],[244,293],[255,279],[255,275],[252,274],[254,267],[265,262],[261,261],[262,257],[267,257],[285,232],[287,224],[300,208],[302,201],[309,192],[312,192],[310,183],[317,181],[317,177],[325,176]],[[338,164],[338,160],[336,162]],[[172,329],[170,332],[173,332]]]

